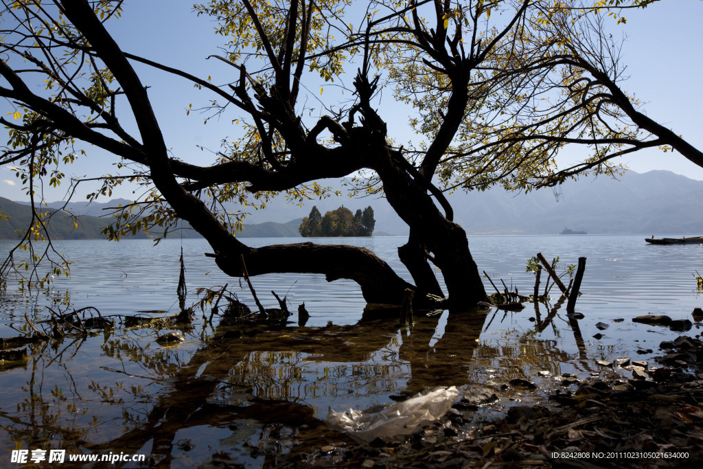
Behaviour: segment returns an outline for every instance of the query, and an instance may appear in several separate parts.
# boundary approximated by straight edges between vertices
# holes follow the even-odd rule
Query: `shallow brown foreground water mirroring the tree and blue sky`
[[[330,439],[351,444],[324,425],[330,406],[456,385],[491,387],[500,408],[542,399],[562,373],[593,373],[593,360],[617,349],[584,340],[593,321],[561,306],[415,314],[402,327],[397,309],[342,326],[195,321],[171,347],[157,345],[167,330],[153,325],[17,345],[24,356],[0,362],[0,439],[8,450],[155,454],[162,465],[273,464]],[[32,318],[40,323],[39,309]],[[539,389],[506,387],[515,378]]]

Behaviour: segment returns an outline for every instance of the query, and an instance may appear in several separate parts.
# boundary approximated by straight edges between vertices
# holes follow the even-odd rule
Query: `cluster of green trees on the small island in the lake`
[[[307,238],[310,236],[373,236],[373,226],[376,224],[373,219],[373,208],[366,207],[352,211],[346,207],[339,207],[337,210],[330,210],[325,216],[320,218],[320,211],[317,207],[312,207],[309,217],[304,217],[298,231]]]

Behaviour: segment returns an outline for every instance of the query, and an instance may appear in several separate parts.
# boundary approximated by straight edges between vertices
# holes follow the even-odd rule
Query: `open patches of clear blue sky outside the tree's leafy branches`
[[[214,34],[214,23],[203,16],[196,17],[191,10],[192,3],[183,0],[127,0],[122,19],[108,23],[108,29],[124,51],[181,68],[202,78],[211,75],[216,84],[231,82],[236,70],[217,60],[205,59],[212,53],[221,53],[217,47],[222,38]],[[644,11],[628,11],[625,16],[626,25],[613,25],[614,34],[624,32],[628,35],[622,58],[627,65],[626,75],[630,78],[624,89],[645,102],[647,115],[683,135],[697,148],[703,148],[703,132],[700,130],[703,96],[697,78],[703,72],[703,30],[699,25],[703,18],[703,2],[663,0]],[[211,157],[198,146],[217,149],[221,139],[236,136],[238,130],[231,122],[238,117],[234,110],[219,122],[211,120],[206,125],[203,124],[204,116],[198,113],[191,112],[186,116],[189,103],[197,108],[207,102],[212,96],[207,91],[197,91],[184,79],[169,77],[143,65],[136,64],[135,68],[144,84],[150,86],[150,98],[167,146],[176,157],[207,162]],[[309,88],[318,90],[320,84]],[[333,89],[325,93],[333,93]],[[382,105],[390,102],[390,93],[386,93]],[[7,103],[2,106],[4,115],[10,108]],[[392,113],[399,115],[397,118],[385,115],[389,135],[399,142],[416,141],[417,138],[405,126],[406,111],[392,109]],[[115,173],[110,167],[115,158],[93,148],[85,149],[89,158],[83,157],[76,165],[67,168],[69,174],[94,177]],[[703,168],[678,153],[648,150],[629,155],[622,162],[636,172],[667,169],[703,180]],[[79,193],[86,193],[89,187],[86,184]],[[0,196],[27,200],[19,181],[6,167],[0,167]],[[65,188],[61,188],[49,193],[47,199],[64,197]],[[131,189],[125,189],[117,191],[113,197],[134,198],[134,195]]]

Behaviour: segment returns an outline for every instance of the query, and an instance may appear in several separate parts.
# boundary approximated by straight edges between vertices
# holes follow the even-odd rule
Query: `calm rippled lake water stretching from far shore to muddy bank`
[[[525,272],[527,259],[538,252],[548,259],[559,256],[560,269],[586,257],[583,295],[576,303],[585,317],[579,321],[569,321],[553,301],[512,313],[416,315],[414,326],[399,328],[394,319],[362,321],[368,314],[363,315],[366,304],[355,283],[271,274],[252,278],[259,300],[278,307],[270,294],[275,290],[287,295],[294,313],[304,302],[311,315],[304,327],[297,326],[296,314],[287,325],[258,328],[197,319],[181,329],[186,342],[174,347],[155,342],[167,330],[120,326],[86,339],[34,345],[27,361],[0,362],[0,442],[8,450],[167,454],[172,467],[209,463],[221,452],[258,467],[271,451],[286,452],[311,438],[310,429],[328,407],[363,409],[434,385],[489,386],[501,399],[478,411],[477,418],[491,416],[516,402],[543,399],[562,373],[581,378],[599,373],[593,363],[598,359],[632,356],[652,363],[659,342],[679,335],[631,319],[650,313],[692,319],[692,309],[702,303],[692,274],[703,272],[703,246],[648,245],[644,237],[469,238],[479,269],[523,295],[534,287],[534,274]],[[252,245],[299,241],[245,240]],[[314,241],[363,245],[411,280],[396,256],[404,238]],[[0,253],[12,245],[0,241]],[[155,247],[148,240],[55,245],[75,262],[70,278],[56,278],[50,288],[25,295],[9,285],[0,306],[0,337],[26,330],[25,314],[41,326],[51,305],[60,311],[94,307],[103,316],[178,312],[181,246],[186,304],[198,302],[196,288],[228,283],[241,301],[254,305],[245,283],[224,276],[203,255],[211,251],[203,240],[165,240]],[[493,293],[487,279],[484,284]],[[607,328],[600,330],[597,323]],[[689,335],[700,333],[699,323],[693,327]],[[528,378],[540,389],[501,390],[512,378]],[[7,465],[2,458],[0,466]]]

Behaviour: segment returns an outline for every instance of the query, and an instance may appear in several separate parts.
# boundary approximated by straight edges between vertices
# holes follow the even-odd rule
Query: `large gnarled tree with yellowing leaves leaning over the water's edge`
[[[431,262],[444,276],[444,304],[468,311],[486,293],[444,191],[529,191],[579,174],[614,175],[621,168],[613,158],[640,148],[673,148],[703,165],[699,150],[621,88],[619,44],[602,27],[605,2],[382,0],[364,11],[342,0],[212,0],[195,9],[224,37],[224,55],[210,56],[232,71],[222,84],[122,50],[103,24],[117,20],[122,1],[3,4],[0,96],[14,118],[1,119],[11,129],[1,162],[18,168],[32,203],[45,179],[60,183],[77,142],[101,148],[115,155],[117,173],[91,198],[126,181],[146,189],[117,213],[108,238],[182,219],[231,276],[243,275],[243,256],[250,275],[350,278],[368,302],[399,304],[406,288],[416,302],[444,296]],[[174,158],[147,92],[160,84],[144,82],[133,64],[207,91],[202,110],[231,119],[241,137],[223,139],[212,161]],[[415,143],[388,134],[386,120],[399,115],[386,106],[390,96],[413,108]],[[586,156],[559,169],[566,146]],[[223,203],[263,205],[282,192],[309,200],[328,192],[316,181],[345,176],[357,191],[385,196],[410,227],[399,257],[414,285],[365,248],[251,248],[233,236],[241,220]]]

